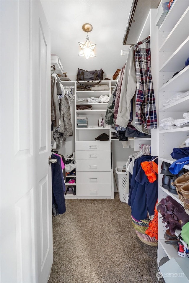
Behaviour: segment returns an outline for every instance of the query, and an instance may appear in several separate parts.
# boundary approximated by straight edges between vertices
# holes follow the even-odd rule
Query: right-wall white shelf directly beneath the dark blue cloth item
[[[159,92],[186,92],[189,89],[189,65],[159,88]]]

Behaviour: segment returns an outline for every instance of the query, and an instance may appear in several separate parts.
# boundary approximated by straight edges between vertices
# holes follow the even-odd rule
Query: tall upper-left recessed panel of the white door
[[[14,60],[14,135],[15,135],[15,154],[19,155],[30,153],[30,116],[31,113],[31,92],[30,92],[30,55],[31,55],[31,4],[30,1],[15,1],[15,44]],[[25,11],[25,13],[23,13]],[[27,72],[24,70],[28,70]],[[16,79],[17,78],[17,79]],[[10,76],[11,79],[11,76]],[[24,82],[24,83],[23,83]],[[23,124],[23,121],[25,123]],[[25,139],[23,139],[23,135]]]

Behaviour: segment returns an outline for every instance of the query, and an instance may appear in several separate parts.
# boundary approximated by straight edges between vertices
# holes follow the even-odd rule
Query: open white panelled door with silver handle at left
[[[0,1],[1,282],[52,266],[50,31],[40,1]]]

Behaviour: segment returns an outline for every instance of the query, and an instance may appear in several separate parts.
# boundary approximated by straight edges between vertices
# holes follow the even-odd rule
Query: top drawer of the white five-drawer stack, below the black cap
[[[110,141],[76,141],[76,150],[110,150]]]

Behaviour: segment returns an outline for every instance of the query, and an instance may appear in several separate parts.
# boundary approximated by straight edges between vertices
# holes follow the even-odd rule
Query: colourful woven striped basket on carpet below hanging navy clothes
[[[155,237],[151,238],[150,236],[145,234],[145,231],[148,229],[149,226],[149,220],[137,220],[131,215],[132,224],[134,227],[134,230],[136,232],[136,235],[139,237],[139,239],[149,246],[157,246],[157,240]]]

